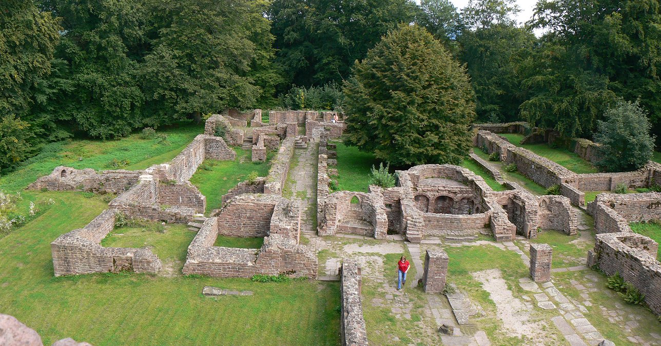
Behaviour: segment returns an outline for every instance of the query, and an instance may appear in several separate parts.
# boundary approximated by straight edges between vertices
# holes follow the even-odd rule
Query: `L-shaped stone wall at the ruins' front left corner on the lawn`
[[[106,210],[85,228],[51,243],[55,276],[88,273],[157,273],[161,260],[147,248],[104,248],[100,242],[114,228],[117,211]]]

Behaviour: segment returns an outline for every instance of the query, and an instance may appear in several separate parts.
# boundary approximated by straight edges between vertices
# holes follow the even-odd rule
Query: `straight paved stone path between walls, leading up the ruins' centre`
[[[294,162],[295,160],[295,162]],[[301,233],[317,236],[317,161],[319,142],[308,142],[306,148],[295,148],[292,168],[285,190],[291,191],[293,201],[301,203]]]

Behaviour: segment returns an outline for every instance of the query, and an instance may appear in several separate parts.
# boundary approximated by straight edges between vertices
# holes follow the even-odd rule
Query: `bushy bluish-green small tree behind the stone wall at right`
[[[595,141],[602,144],[597,165],[608,172],[628,172],[644,166],[654,152],[651,124],[639,102],[617,102],[598,121]]]

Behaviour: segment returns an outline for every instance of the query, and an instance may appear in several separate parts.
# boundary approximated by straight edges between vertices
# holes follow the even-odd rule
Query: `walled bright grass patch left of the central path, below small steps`
[[[233,161],[204,160],[190,178],[191,184],[197,186],[207,197],[207,213],[218,209],[221,205],[221,197],[239,182],[246,180],[251,172],[257,172],[258,176],[268,174],[268,162],[273,158],[273,152],[267,153],[266,162],[253,163],[251,151],[240,148],[234,150],[237,152],[237,157]]]

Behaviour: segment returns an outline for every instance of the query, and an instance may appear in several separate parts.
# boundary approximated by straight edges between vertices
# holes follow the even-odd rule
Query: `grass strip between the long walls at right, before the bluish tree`
[[[520,142],[522,139],[524,139],[525,136],[518,133],[501,133],[500,135],[506,137],[510,143],[528,149],[529,151],[532,151],[539,156],[548,158],[553,162],[557,162],[572,172],[580,174],[599,172],[599,170],[594,165],[592,165],[592,163],[584,160],[580,156],[576,155],[576,153],[572,153],[566,149],[551,148],[546,143],[522,145]]]

